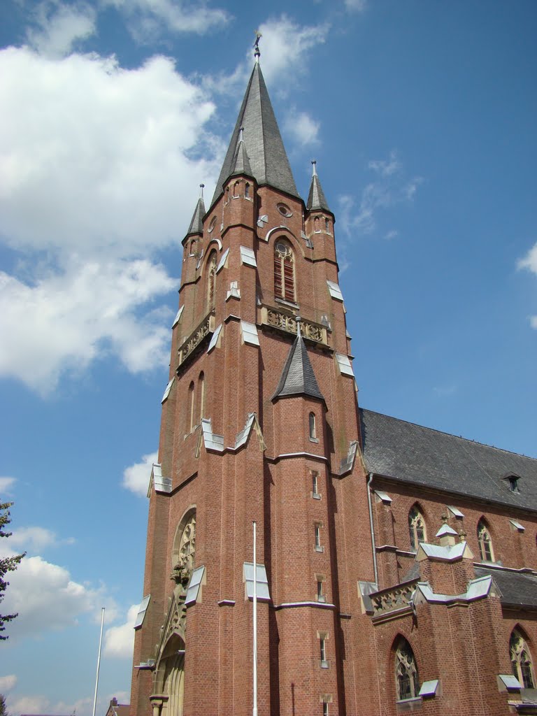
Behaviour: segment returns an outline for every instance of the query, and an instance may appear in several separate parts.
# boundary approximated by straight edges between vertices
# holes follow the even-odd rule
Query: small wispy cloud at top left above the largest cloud
[[[69,54],[77,40],[95,33],[95,9],[85,3],[66,5],[44,0],[33,11],[35,27],[26,32],[31,47],[50,57]]]

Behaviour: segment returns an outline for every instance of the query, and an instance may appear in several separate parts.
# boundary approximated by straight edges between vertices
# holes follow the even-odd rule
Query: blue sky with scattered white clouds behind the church
[[[4,0],[0,497],[28,551],[0,692],[130,690],[180,241],[253,66],[337,219],[363,407],[536,455],[533,0]]]

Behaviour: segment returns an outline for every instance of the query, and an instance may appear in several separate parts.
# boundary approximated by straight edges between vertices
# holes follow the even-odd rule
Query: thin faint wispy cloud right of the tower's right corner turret
[[[376,176],[362,190],[359,205],[353,196],[343,195],[339,198],[339,224],[345,233],[372,233],[377,229],[379,213],[399,203],[410,203],[415,197],[421,177],[405,176],[402,163],[397,153],[392,151],[387,160],[374,159],[369,161],[367,168]],[[391,229],[386,238],[397,236],[397,230]]]

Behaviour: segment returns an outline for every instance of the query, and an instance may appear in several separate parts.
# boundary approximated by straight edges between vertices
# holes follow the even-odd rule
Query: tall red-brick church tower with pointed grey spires
[[[256,57],[183,240],[136,715],[149,701],[154,716],[251,714],[253,521],[258,713],[322,713],[323,699],[337,712],[353,678],[340,615],[373,578],[350,353],[334,215],[315,166],[306,204],[296,190]],[[354,554],[344,571],[337,551]]]

